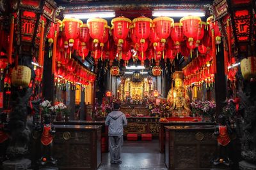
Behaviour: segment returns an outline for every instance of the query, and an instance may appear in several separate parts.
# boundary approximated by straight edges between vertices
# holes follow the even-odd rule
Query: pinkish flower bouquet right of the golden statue
[[[195,117],[209,117],[214,120],[216,104],[214,101],[193,101],[190,103],[192,113]]]

